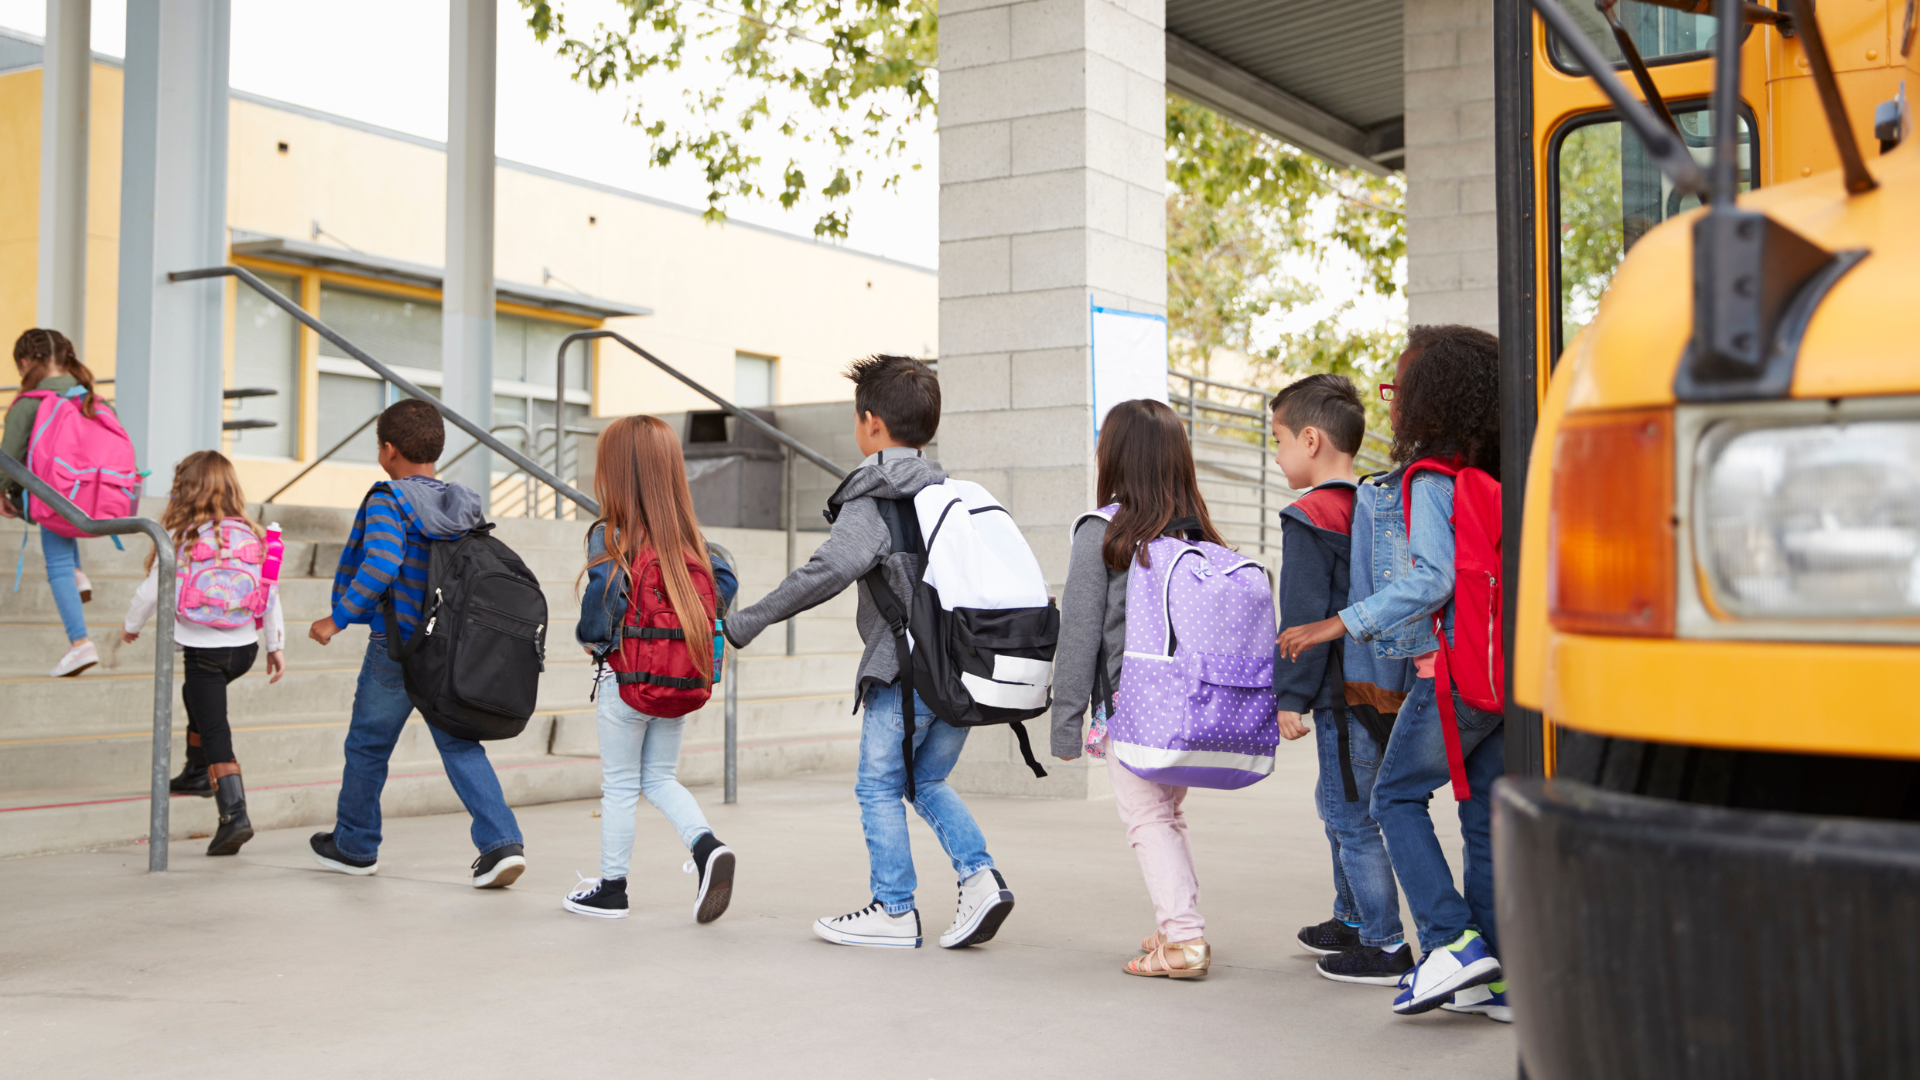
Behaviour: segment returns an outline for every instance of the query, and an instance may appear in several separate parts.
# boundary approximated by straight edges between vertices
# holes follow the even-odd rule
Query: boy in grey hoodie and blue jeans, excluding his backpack
[[[824,603],[868,571],[881,567],[895,596],[912,596],[912,555],[895,552],[885,500],[912,500],[920,488],[947,479],[920,448],[933,442],[941,425],[941,382],[933,369],[906,356],[874,356],[852,365],[854,442],[866,455],[828,496],[833,532],[804,567],[787,575],[764,600],[728,619],[726,636],[745,646],[760,630]],[[889,507],[897,509],[895,507]],[[914,509],[904,509],[904,521]],[[902,517],[893,517],[902,521]],[[920,909],[914,907],[914,855],[906,840],[904,709],[914,709],[914,811],[941,840],[960,901],[941,947],[960,949],[987,942],[1014,909],[1006,878],[987,855],[987,840],[947,774],[966,746],[966,728],[933,715],[918,694],[900,700],[893,632],[879,615],[866,582],[860,582],[856,626],[866,651],[860,655],[856,696],[866,703],[860,723],[860,765],[854,796],[872,871],[872,903],[847,915],[816,919],[814,934],[837,945],[920,947]]]

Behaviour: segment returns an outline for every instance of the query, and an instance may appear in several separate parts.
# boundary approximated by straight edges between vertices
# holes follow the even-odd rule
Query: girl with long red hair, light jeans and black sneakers
[[[588,565],[582,571],[588,588],[574,636],[599,665],[601,876],[582,878],[561,907],[576,915],[626,919],[634,809],[645,796],[693,853],[685,865],[689,872],[699,872],[693,919],[712,922],[733,896],[733,851],[714,836],[707,815],[676,778],[687,721],[684,715],[649,717],[626,703],[620,698],[622,678],[607,661],[620,651],[624,638],[636,636],[634,630],[645,632],[647,626],[626,625],[628,603],[651,588],[664,594],[680,634],[664,638],[664,648],[685,650],[693,682],[710,688],[716,605],[703,601],[697,578],[707,577],[718,609],[732,603],[737,586],[726,563],[708,559],[701,523],[693,517],[680,438],[660,419],[622,417],[607,425],[593,463],[593,498],[601,503],[601,519],[588,530]]]

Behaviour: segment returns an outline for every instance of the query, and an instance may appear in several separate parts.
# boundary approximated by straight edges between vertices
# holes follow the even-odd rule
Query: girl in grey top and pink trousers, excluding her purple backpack
[[[1160,402],[1121,402],[1100,423],[1094,448],[1094,490],[1100,505],[1117,505],[1112,521],[1079,521],[1068,555],[1068,584],[1060,598],[1060,646],[1054,651],[1052,751],[1071,761],[1081,751],[1106,757],[1106,719],[1114,713],[1127,650],[1127,573],[1150,540],[1187,532],[1221,544],[1200,498],[1192,450],[1181,419]],[[1092,734],[1081,736],[1081,717],[1092,705]],[[1127,826],[1127,844],[1140,861],[1156,928],[1140,942],[1127,974],[1198,978],[1213,953],[1200,917],[1200,878],[1187,840],[1181,803],[1187,788],[1156,784],[1108,765],[1114,805]]]

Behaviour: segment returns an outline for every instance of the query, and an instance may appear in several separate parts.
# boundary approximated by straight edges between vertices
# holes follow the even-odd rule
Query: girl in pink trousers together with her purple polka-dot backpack
[[[1173,669],[1192,667],[1192,646],[1171,642],[1167,598],[1179,603],[1177,592],[1204,586],[1221,596],[1233,594],[1219,611],[1246,609],[1246,619],[1223,617],[1202,644],[1210,650],[1206,659],[1219,665],[1240,659],[1215,655],[1236,638],[1246,638],[1261,653],[1238,665],[1244,671],[1233,676],[1235,686],[1219,686],[1210,698],[1235,701],[1250,728],[1258,728],[1250,732],[1254,740],[1265,738],[1265,771],[1271,771],[1279,738],[1273,723],[1273,598],[1265,571],[1235,557],[1213,528],[1187,430],[1173,409],[1150,400],[1114,405],[1100,423],[1094,461],[1094,486],[1104,505],[1073,523],[1068,582],[1060,598],[1060,646],[1054,651],[1052,751],[1062,761],[1079,757],[1083,749],[1106,757],[1114,805],[1146,878],[1156,926],[1140,942],[1140,955],[1121,970],[1200,978],[1213,953],[1204,938],[1200,876],[1181,803],[1188,786],[1236,788],[1265,773],[1250,765],[1260,757],[1254,746],[1235,746],[1233,753],[1202,749],[1171,730],[1167,709],[1160,705],[1190,698]],[[1181,575],[1188,580],[1177,582]],[[1246,626],[1240,623],[1250,623],[1252,634],[1242,634]],[[1142,638],[1156,638],[1152,650]],[[1169,646],[1165,655],[1160,655],[1162,642]],[[1123,661],[1135,669],[1125,682]],[[1261,667],[1263,675],[1256,671]],[[1263,690],[1256,686],[1261,678]],[[1081,717],[1089,703],[1092,730],[1083,742]],[[1196,719],[1200,724],[1215,721],[1219,717]],[[1152,746],[1156,742],[1162,746]]]

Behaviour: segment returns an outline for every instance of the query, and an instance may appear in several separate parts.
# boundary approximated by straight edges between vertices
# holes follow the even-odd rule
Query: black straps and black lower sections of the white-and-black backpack
[[[985,494],[985,492],[981,492]],[[1012,724],[1020,740],[1020,755],[1035,776],[1046,776],[1046,769],[1033,757],[1027,740],[1031,721],[1046,713],[1050,705],[1044,682],[1006,682],[1008,663],[1018,667],[1050,671],[1054,646],[1060,640],[1060,609],[1048,598],[1044,607],[945,607],[939,590],[925,580],[927,546],[931,538],[922,538],[920,517],[914,500],[874,500],[881,521],[887,523],[893,553],[866,575],[868,596],[874,607],[893,630],[895,657],[900,669],[900,713],[902,730],[900,753],[906,755],[906,798],[914,792],[914,711],[908,705],[918,696],[935,717],[948,724],[970,728],[985,724]],[[948,513],[1006,513],[1000,505],[968,509],[954,500]],[[947,513],[941,515],[943,523]],[[1021,542],[1023,546],[1023,542]],[[906,601],[895,596],[887,584],[887,563],[904,557],[914,592]],[[1037,571],[1035,571],[1037,573]],[[912,636],[912,646],[908,646]],[[1006,688],[1016,696],[1031,698],[1014,705],[983,700],[983,688]]]

